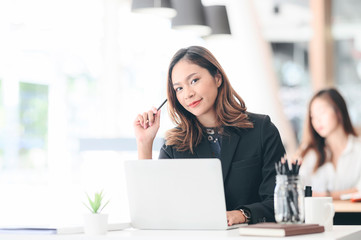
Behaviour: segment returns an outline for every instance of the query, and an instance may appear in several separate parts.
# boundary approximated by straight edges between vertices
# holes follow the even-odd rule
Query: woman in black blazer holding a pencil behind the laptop
[[[221,65],[199,46],[172,58],[167,95],[176,127],[166,133],[159,158],[219,158],[228,224],[274,221],[274,166],[285,150],[270,118],[246,111]],[[136,117],[139,159],[152,158],[159,119],[155,108]]]

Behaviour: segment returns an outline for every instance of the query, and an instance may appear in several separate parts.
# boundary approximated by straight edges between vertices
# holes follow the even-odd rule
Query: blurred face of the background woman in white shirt
[[[339,126],[336,111],[323,98],[315,98],[313,100],[310,114],[312,126],[321,137],[327,138]]]

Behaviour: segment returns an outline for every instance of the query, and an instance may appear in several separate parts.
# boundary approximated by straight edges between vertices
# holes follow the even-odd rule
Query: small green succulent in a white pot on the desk
[[[88,204],[84,205],[90,213],[84,215],[84,232],[87,235],[101,235],[108,231],[108,214],[101,211],[108,205],[109,200],[103,203],[103,191],[96,192],[92,199],[88,194]]]

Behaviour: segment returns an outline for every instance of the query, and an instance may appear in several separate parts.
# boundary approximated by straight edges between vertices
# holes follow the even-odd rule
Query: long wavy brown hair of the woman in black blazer
[[[182,48],[173,56],[168,68],[167,95],[168,111],[176,128],[166,133],[166,144],[174,145],[177,151],[191,151],[202,140],[202,125],[192,113],[188,112],[177,100],[173,89],[172,72],[174,66],[180,60],[187,60],[202,68],[215,77],[220,74],[222,84],[218,88],[215,105],[216,120],[220,126],[233,126],[239,128],[252,128],[253,124],[248,120],[246,105],[243,99],[232,88],[226,73],[213,54],[204,47],[191,46]]]

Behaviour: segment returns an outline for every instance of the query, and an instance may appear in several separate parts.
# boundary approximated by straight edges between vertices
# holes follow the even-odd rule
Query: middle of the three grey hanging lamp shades
[[[201,0],[172,0],[172,6],[177,11],[172,19],[173,29],[192,31],[199,36],[211,33]]]

